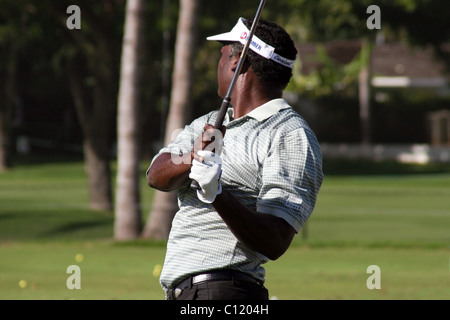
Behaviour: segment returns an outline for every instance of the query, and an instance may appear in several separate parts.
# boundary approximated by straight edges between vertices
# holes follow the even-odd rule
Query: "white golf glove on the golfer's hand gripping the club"
[[[189,178],[198,182],[200,189],[197,197],[205,203],[212,203],[216,196],[222,193],[220,176],[222,174],[222,158],[217,153],[200,150],[197,155],[203,162],[193,160]]]

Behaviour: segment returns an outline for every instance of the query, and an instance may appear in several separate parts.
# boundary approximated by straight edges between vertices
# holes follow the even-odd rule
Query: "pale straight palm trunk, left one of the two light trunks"
[[[122,47],[118,106],[118,156],[114,238],[138,238],[141,232],[139,197],[139,51],[143,0],[128,0]]]

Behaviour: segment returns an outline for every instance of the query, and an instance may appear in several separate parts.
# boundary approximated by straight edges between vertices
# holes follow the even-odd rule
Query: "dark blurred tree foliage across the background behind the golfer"
[[[286,27],[296,43],[369,38],[375,41],[380,32],[366,27],[371,4],[381,8],[385,41],[399,41],[411,46],[432,45],[436,55],[445,56],[443,44],[449,36],[449,4],[436,0],[396,1],[279,0],[268,2],[263,18]],[[81,9],[82,29],[69,30],[66,9],[76,4]],[[141,120],[143,154],[151,156],[163,139],[170,93],[178,1],[147,1],[142,79]],[[228,30],[239,16],[252,17],[256,4],[236,1],[201,1],[195,66],[193,114],[191,119],[218,108],[216,64],[218,46],[206,36]],[[33,152],[82,152],[83,131],[75,108],[78,99],[70,77],[81,82],[81,95],[95,105],[99,95],[107,99],[99,119],[108,122],[108,144],[114,152],[115,112],[118,93],[119,63],[123,36],[124,0],[0,1],[0,113],[5,131],[11,131],[11,152],[18,137],[27,137]],[[420,21],[420,22],[419,22]],[[302,52],[289,91],[297,101],[314,107],[304,112],[319,140],[326,142],[359,141],[357,76],[360,59],[337,63],[318,47],[314,57],[322,68],[302,74]],[[447,67],[449,61],[442,59]],[[73,77],[72,77],[73,78]],[[338,86],[336,84],[339,84]],[[390,124],[373,127],[375,142],[426,142],[424,113],[448,108],[448,96],[429,92],[395,90],[388,102],[374,97],[372,122]],[[89,106],[88,110],[94,107]],[[104,108],[104,109],[103,109]],[[301,107],[299,107],[302,110]],[[308,109],[308,110],[309,110]],[[311,111],[310,110],[310,111]],[[320,121],[317,115],[320,115]],[[316,115],[315,117],[311,115]],[[405,118],[405,116],[407,118]],[[406,121],[405,121],[406,120]],[[417,123],[421,122],[420,125]],[[389,130],[392,128],[392,130]],[[413,130],[420,128],[419,130]],[[413,131],[411,131],[413,130]],[[395,132],[393,132],[395,131]],[[410,133],[413,134],[410,134]]]

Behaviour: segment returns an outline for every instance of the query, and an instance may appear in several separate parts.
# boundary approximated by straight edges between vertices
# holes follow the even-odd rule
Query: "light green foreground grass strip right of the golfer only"
[[[381,289],[367,273],[380,267]],[[447,249],[290,248],[266,268],[267,288],[279,299],[449,299]]]

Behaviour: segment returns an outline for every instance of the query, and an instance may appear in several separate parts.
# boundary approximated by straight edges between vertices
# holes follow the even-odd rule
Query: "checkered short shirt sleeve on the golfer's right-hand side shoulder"
[[[305,128],[278,131],[264,160],[257,211],[284,219],[298,233],[314,209],[322,180],[314,134]]]

